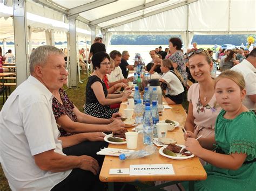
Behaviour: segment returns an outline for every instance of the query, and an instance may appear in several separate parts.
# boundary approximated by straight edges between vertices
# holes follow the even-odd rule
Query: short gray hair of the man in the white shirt
[[[63,57],[65,56],[60,49],[49,45],[39,46],[35,49],[35,51],[31,52],[29,57],[30,74],[32,74],[35,71],[35,66],[45,65],[49,55],[52,54],[63,55]]]

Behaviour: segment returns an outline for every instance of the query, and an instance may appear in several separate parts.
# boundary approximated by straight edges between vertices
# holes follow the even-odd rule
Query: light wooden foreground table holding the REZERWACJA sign
[[[159,120],[172,119],[178,121],[181,126],[184,126],[186,120],[186,112],[183,109],[181,104],[170,105],[172,109],[165,109],[163,116]],[[127,107],[126,104],[121,104],[119,111],[123,113],[123,110]],[[132,128],[127,128],[131,130]],[[178,144],[184,144],[184,136],[181,128],[176,128],[172,132],[167,133],[167,137],[174,138]],[[109,144],[111,148],[124,148],[126,149],[126,144],[124,145],[112,145]],[[138,137],[138,147],[136,150],[141,150],[145,145],[142,143],[142,133]],[[109,190],[113,189],[113,182],[138,182],[138,181],[174,181],[173,183],[178,183],[180,181],[190,181],[190,190],[194,189],[194,180],[205,180],[207,174],[201,165],[197,157],[193,157],[186,160],[173,160],[166,157],[163,157],[157,152],[149,155],[145,158],[132,159],[132,160],[120,160],[118,157],[106,156],[103,162],[102,170],[100,171],[99,179],[102,182],[109,182]],[[172,164],[174,169],[174,175],[136,175],[130,176],[127,175],[109,175],[110,168],[130,168],[130,165],[139,165],[139,164]],[[173,183],[169,183],[172,185]],[[158,186],[164,187],[163,186]],[[154,187],[156,188],[156,186]],[[147,188],[147,190],[149,190]]]

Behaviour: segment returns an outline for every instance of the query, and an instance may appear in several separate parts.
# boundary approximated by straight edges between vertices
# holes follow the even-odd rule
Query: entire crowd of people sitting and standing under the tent
[[[254,189],[256,48],[248,54],[220,49],[215,60],[224,61],[223,72],[213,79],[211,50],[194,43],[184,55],[181,47],[179,38],[171,38],[165,51],[150,51],[152,61],[145,69],[160,74],[168,104],[184,102],[186,68],[197,82],[188,89],[184,134],[186,149],[207,164],[208,177],[196,182],[196,190]],[[131,94],[127,83],[133,77],[128,74],[136,65],[127,62],[128,51],[107,54],[102,39],[96,38],[87,58],[93,72],[81,112],[62,89],[68,77],[64,52],[53,46],[36,48],[29,60],[31,75],[1,111],[0,153],[11,189],[103,190],[98,173],[104,157],[96,152],[107,146],[102,132],[124,129],[118,110]],[[79,65],[86,60],[83,53],[81,49]],[[120,88],[124,90],[117,93]]]

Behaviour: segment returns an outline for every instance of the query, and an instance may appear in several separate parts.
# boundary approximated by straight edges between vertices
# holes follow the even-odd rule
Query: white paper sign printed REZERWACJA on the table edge
[[[130,175],[174,174],[171,164],[130,165]]]

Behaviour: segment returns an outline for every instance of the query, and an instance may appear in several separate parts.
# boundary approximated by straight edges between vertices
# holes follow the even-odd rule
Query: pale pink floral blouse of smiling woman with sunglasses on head
[[[194,124],[208,129],[214,129],[216,118],[221,107],[216,101],[215,94],[207,105],[203,105],[199,99],[199,83],[194,83],[188,89],[187,100],[193,105]]]

